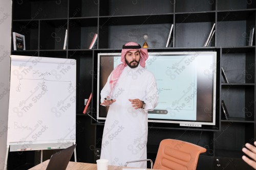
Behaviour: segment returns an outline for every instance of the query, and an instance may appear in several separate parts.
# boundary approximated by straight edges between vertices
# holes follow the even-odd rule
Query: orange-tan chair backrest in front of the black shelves
[[[154,169],[196,170],[198,157],[206,149],[199,145],[176,139],[164,139],[160,142]]]

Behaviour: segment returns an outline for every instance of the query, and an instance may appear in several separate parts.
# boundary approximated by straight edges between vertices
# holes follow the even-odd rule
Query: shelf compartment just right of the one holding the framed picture
[[[67,19],[41,20],[39,37],[41,50],[63,50],[67,26]]]

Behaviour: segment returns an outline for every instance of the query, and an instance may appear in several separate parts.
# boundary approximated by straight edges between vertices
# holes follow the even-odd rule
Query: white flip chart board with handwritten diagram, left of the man
[[[76,60],[10,57],[7,145],[75,143]]]

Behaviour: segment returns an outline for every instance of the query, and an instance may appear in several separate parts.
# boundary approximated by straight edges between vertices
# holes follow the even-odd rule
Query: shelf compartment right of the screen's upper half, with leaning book
[[[232,53],[227,48],[222,50],[221,62],[228,83],[255,83],[255,50],[250,49],[245,53]]]

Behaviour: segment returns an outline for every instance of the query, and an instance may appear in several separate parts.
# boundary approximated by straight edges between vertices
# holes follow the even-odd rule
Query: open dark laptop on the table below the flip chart
[[[53,154],[46,167],[46,170],[66,170],[75,148],[76,144]]]

